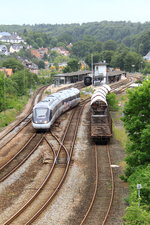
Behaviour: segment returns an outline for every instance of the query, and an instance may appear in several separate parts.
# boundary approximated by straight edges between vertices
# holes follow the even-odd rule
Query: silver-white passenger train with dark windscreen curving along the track
[[[65,111],[80,102],[80,91],[70,88],[47,96],[33,107],[32,126],[35,129],[49,129]]]

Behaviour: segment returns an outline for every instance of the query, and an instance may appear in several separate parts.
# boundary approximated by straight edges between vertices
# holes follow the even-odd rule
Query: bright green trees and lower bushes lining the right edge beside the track
[[[126,169],[123,177],[129,183],[129,207],[124,225],[150,224],[150,80],[128,92],[123,122],[128,133]],[[140,189],[138,189],[140,185]]]

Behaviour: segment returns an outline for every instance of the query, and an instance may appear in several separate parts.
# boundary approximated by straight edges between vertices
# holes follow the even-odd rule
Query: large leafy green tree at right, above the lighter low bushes
[[[147,165],[150,162],[150,80],[134,91],[128,92],[128,102],[124,108],[124,125],[128,132],[126,175],[130,176],[136,166]]]

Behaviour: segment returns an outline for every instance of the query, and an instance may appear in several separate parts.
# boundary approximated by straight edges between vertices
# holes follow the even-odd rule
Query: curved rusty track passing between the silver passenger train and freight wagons
[[[57,150],[57,153],[54,154],[55,157],[53,157],[53,163],[52,163],[52,166],[50,167],[50,170],[49,170],[49,173],[48,173],[46,179],[41,184],[41,186],[37,190],[37,192],[32,196],[32,198],[30,200],[28,200],[28,202],[24,206],[22,206],[21,209],[19,209],[14,215],[11,216],[11,218],[9,218],[3,224],[12,224],[12,223],[13,224],[31,224],[39,216],[39,214],[41,214],[43,212],[45,207],[47,207],[47,205],[50,204],[50,202],[52,201],[52,199],[54,198],[54,196],[60,189],[61,185],[64,183],[65,177],[69,170],[69,166],[71,164],[71,156],[72,156],[72,152],[74,149],[74,144],[75,144],[75,140],[76,140],[80,116],[82,114],[84,104],[86,104],[86,101],[84,101],[84,102],[85,103],[82,103],[80,106],[76,107],[73,110],[73,113],[71,114],[69,123],[67,125],[66,131],[65,131],[64,136],[61,141],[54,134],[51,133],[51,135],[59,142],[60,147],[59,147],[59,150]],[[44,139],[47,142],[47,144],[50,145],[48,138],[46,136],[44,137]],[[51,146],[51,148],[52,148],[52,146]],[[53,152],[55,152],[55,151],[53,150]],[[49,192],[51,192],[51,194],[49,193],[50,195],[48,197],[46,197],[44,202],[43,202],[43,197],[42,197],[42,200],[38,200],[37,198],[40,198],[39,194],[41,195],[41,191],[43,192],[43,190],[45,190],[45,193],[46,193],[48,187],[50,187],[50,184],[52,183],[52,181],[50,181],[50,179],[52,179],[51,177],[53,177],[54,176],[53,174],[56,173],[55,170],[58,170],[59,164],[61,164],[61,165],[63,164],[63,167],[59,167],[59,173],[61,173],[61,176],[58,179],[57,184],[55,184],[54,187],[50,188],[54,191],[52,191],[52,192],[51,192],[51,190],[49,191]],[[60,172],[60,170],[61,170],[61,172]],[[35,203],[33,203],[34,201],[35,201]],[[40,202],[40,204],[38,203],[38,210],[37,210],[37,202]],[[34,208],[34,206],[31,206],[31,204],[36,205],[35,206],[36,212],[33,212],[34,210],[32,211],[33,215],[31,215],[30,207]],[[28,207],[29,207],[29,209],[28,209]],[[24,212],[24,210],[26,211],[25,216],[21,216],[21,214]],[[31,217],[29,220],[25,219],[25,218],[27,218],[27,215],[28,215],[28,217],[29,217],[29,215]],[[15,222],[13,222],[14,220],[15,220]]]

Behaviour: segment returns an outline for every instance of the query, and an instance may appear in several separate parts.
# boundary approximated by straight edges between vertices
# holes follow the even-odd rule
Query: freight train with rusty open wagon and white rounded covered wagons
[[[112,120],[106,100],[110,90],[104,84],[91,97],[91,138],[98,144],[107,144],[112,136]]]

